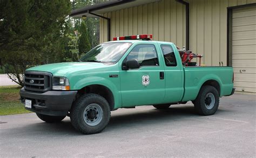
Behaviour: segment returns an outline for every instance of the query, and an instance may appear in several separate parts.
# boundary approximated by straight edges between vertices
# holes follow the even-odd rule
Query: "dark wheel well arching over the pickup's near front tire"
[[[111,90],[104,85],[93,84],[78,90],[76,98],[84,94],[98,94],[104,97],[110,105],[110,110],[114,109],[114,96]]]

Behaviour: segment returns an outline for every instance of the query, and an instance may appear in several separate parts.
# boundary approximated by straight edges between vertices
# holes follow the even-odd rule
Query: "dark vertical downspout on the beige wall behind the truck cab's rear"
[[[190,4],[184,0],[176,0],[176,2],[186,6],[186,51],[190,49]]]

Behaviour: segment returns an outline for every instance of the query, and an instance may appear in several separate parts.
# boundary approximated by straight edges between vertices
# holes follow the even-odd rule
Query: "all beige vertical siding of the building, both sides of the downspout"
[[[203,54],[208,66],[227,65],[227,7],[256,0],[187,0],[190,3],[190,49]],[[111,39],[122,35],[153,34],[153,40],[185,46],[185,6],[174,0],[105,13],[111,18]],[[100,42],[107,41],[107,22],[100,19]]]

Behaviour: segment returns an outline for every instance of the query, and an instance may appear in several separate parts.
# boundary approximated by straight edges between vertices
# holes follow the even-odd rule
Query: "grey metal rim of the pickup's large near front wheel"
[[[83,112],[84,121],[89,126],[96,126],[102,121],[103,110],[98,104],[88,105]]]

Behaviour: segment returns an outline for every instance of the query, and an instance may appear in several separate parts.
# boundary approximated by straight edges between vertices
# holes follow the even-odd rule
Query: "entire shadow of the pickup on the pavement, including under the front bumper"
[[[218,113],[221,111],[218,111]],[[35,116],[36,117],[36,116]],[[110,123],[103,131],[104,134],[112,133],[120,130],[133,130],[134,128],[153,126],[156,124],[172,124],[181,123],[188,119],[201,119],[195,112],[193,106],[170,107],[169,109],[139,109],[125,111],[121,109],[114,112],[111,116]],[[70,122],[70,118],[66,117],[60,123],[44,123],[39,122],[19,127],[15,131],[29,131],[32,135],[48,135],[49,137],[63,134],[64,135],[82,135],[76,131]],[[16,132],[14,132],[16,133]],[[13,133],[13,134],[14,134]],[[102,133],[102,134],[103,134]],[[19,133],[21,134],[21,133]],[[26,133],[28,134],[28,133]],[[113,134],[113,133],[112,133]]]

